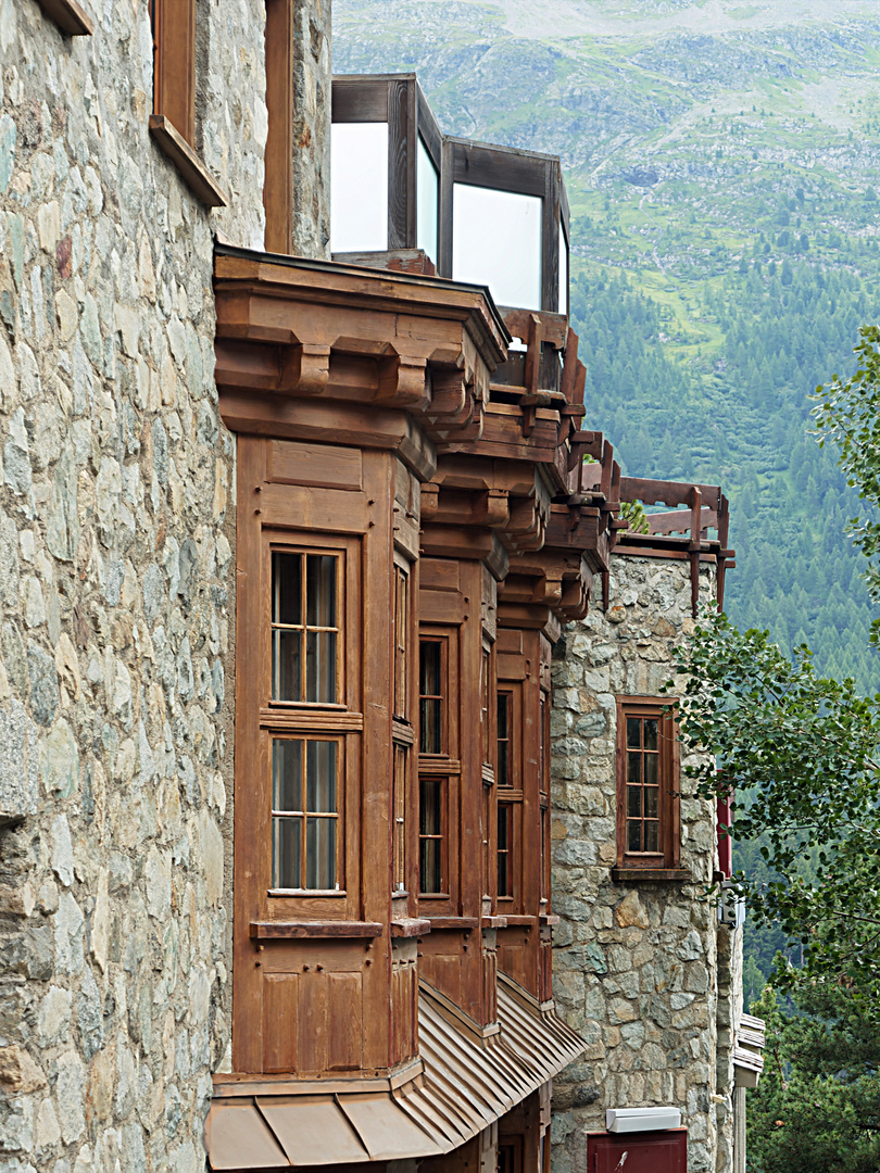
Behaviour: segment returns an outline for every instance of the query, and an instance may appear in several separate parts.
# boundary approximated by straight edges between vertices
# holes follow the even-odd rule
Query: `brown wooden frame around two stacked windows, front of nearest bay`
[[[333,556],[338,560],[336,575],[337,604],[337,703],[309,700],[276,700],[272,697],[272,555],[277,552]],[[363,716],[358,711],[359,677],[357,663],[359,649],[357,632],[360,604],[359,579],[361,572],[361,541],[357,537],[327,534],[307,534],[268,529],[262,535],[263,588],[262,628],[264,632],[262,663],[258,684],[260,743],[263,767],[268,771],[269,814],[265,820],[266,846],[259,852],[262,865],[268,869],[265,884],[260,889],[268,899],[271,917],[289,918],[313,915],[316,903],[324,904],[324,915],[343,916],[345,906],[353,911],[356,904],[357,877],[360,874],[357,843],[356,816],[360,793],[359,734]],[[304,563],[305,567],[305,563]],[[306,601],[303,599],[305,613]],[[307,616],[306,616],[307,617]],[[243,684],[244,682],[239,682]],[[241,698],[239,701],[242,703]],[[272,744],[275,739],[303,739],[337,741],[337,840],[336,883],[333,889],[276,888],[272,884],[271,835],[272,835]],[[305,867],[305,861],[303,862]],[[341,907],[340,907],[341,906]]]

